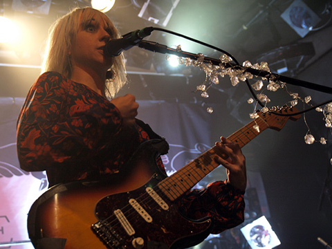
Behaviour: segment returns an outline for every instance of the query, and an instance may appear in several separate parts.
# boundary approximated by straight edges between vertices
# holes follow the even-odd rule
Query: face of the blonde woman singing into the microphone
[[[70,52],[73,68],[107,71],[113,64],[112,57],[104,56],[104,46],[109,39],[111,29],[103,20],[99,24],[95,19],[81,24]]]

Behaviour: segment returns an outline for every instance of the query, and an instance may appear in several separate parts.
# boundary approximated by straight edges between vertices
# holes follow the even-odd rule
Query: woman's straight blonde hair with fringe
[[[55,71],[71,78],[71,59],[69,51],[75,42],[80,26],[94,19],[96,24],[105,21],[107,28],[111,30],[111,39],[120,38],[118,30],[104,13],[93,8],[75,8],[68,14],[60,17],[50,28],[48,42],[42,64],[42,73]],[[105,92],[108,97],[114,97],[127,82],[124,66],[124,56],[121,54],[113,58],[113,65],[109,68],[111,78],[105,82]]]

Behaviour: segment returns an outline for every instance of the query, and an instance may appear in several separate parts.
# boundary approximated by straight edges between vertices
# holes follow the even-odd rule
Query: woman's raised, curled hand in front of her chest
[[[134,95],[126,94],[124,96],[114,98],[111,103],[119,109],[122,118],[123,125],[133,125],[135,124],[135,118],[138,114],[138,103]]]

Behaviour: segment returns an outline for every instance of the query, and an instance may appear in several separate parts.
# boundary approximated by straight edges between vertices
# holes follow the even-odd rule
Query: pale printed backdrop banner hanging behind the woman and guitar
[[[44,172],[25,172],[19,168],[15,142],[16,121],[23,102],[24,98],[0,98],[0,249],[33,249],[26,230],[27,214],[35,199],[48,187]],[[207,113],[198,104],[148,100],[138,102],[138,118],[149,123],[156,133],[169,142],[169,154],[163,156],[168,174],[173,174],[219,139],[213,132],[216,116]],[[224,178],[224,169],[219,167],[197,187]],[[250,191],[246,196],[255,190],[259,197],[259,212],[269,216],[259,173],[248,172],[248,178]],[[246,199],[250,202],[250,196]],[[250,210],[250,203],[247,206]],[[7,246],[5,243],[10,241],[16,244]]]

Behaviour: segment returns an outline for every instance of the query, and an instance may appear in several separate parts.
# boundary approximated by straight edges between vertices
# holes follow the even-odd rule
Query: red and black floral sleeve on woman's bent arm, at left
[[[97,100],[96,93],[89,96],[91,91],[73,83],[48,72],[30,89],[17,121],[22,169],[43,171],[93,156],[120,129],[122,117],[113,104]]]

